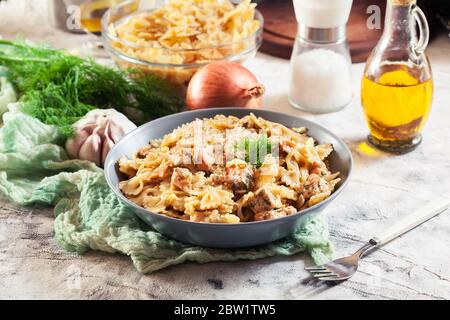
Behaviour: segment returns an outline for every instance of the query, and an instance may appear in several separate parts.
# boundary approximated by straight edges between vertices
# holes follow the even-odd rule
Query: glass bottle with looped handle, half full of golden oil
[[[422,141],[433,96],[428,40],[428,23],[416,0],[387,0],[385,29],[361,86],[368,139],[381,150],[407,153]]]

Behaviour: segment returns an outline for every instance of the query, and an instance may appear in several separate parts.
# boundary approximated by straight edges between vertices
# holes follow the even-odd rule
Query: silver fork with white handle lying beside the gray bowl
[[[366,253],[414,229],[418,225],[445,211],[449,206],[450,201],[448,200],[430,202],[414,213],[404,217],[378,236],[370,239],[368,243],[353,255],[325,263],[322,266],[307,267],[305,270],[309,271],[314,278],[323,281],[347,280],[355,274],[358,269],[359,259]]]

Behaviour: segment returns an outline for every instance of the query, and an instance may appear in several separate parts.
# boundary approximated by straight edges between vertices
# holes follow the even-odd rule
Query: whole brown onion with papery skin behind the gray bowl
[[[188,109],[261,106],[264,86],[237,62],[218,61],[200,69],[191,79]]]

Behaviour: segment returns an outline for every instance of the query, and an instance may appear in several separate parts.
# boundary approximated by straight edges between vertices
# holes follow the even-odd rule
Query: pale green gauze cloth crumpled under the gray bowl
[[[102,169],[88,161],[70,160],[53,126],[18,111],[5,113],[3,122],[0,193],[22,206],[54,206],[55,238],[68,251],[120,252],[143,273],[185,261],[254,260],[303,250],[316,263],[332,257],[324,217],[310,220],[288,239],[252,249],[211,249],[171,240],[120,202]]]

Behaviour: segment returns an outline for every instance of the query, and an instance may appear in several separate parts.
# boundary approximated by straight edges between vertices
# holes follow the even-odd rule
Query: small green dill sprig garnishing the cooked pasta
[[[267,135],[261,134],[256,139],[244,138],[234,144],[235,153],[244,152],[243,160],[260,167],[267,154],[272,153],[272,143]]]

